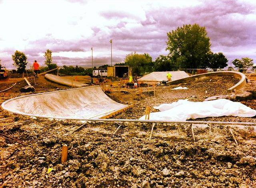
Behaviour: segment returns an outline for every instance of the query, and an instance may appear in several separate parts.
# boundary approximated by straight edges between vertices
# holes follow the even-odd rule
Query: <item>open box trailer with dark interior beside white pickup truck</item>
[[[129,66],[112,66],[108,67],[108,77],[114,76],[118,78],[128,78],[132,75],[131,68]]]

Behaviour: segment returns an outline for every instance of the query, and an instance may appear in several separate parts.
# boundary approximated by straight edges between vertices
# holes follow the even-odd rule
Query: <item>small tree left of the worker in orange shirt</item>
[[[26,70],[28,62],[26,62],[27,57],[23,52],[16,50],[14,55],[12,55],[12,60],[14,61],[14,65],[17,67],[18,73],[22,73]]]

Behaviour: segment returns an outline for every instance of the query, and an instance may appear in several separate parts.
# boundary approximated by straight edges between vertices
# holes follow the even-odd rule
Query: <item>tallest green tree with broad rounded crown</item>
[[[167,33],[166,50],[173,62],[186,69],[205,67],[210,52],[210,38],[205,27],[198,24],[183,25]]]

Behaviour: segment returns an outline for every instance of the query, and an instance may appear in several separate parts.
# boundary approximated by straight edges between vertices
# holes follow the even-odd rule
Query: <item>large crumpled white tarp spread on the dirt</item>
[[[204,102],[190,102],[188,100],[178,100],[172,104],[161,104],[154,107],[161,112],[150,113],[150,119],[185,121],[187,119],[219,117],[219,116],[256,116],[256,110],[227,99],[218,99]],[[145,119],[142,116],[140,119]]]

